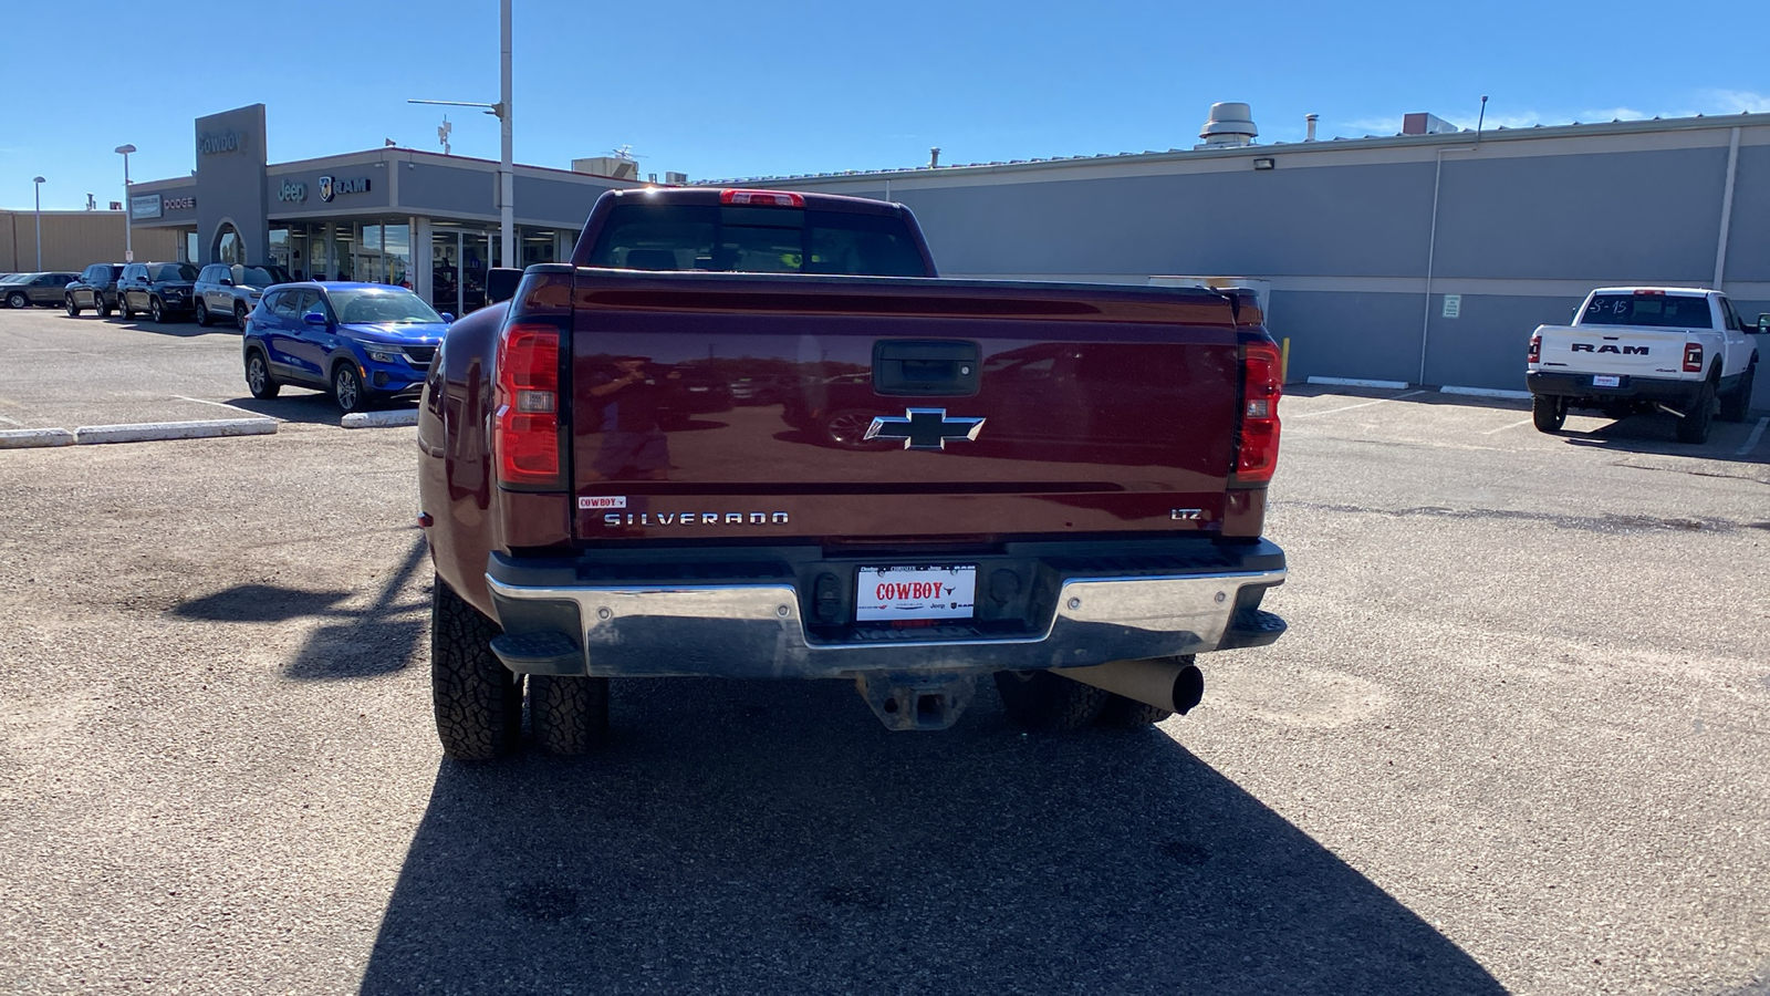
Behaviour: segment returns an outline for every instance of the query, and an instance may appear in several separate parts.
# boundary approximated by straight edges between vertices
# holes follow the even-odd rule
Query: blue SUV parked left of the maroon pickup
[[[453,315],[384,284],[283,284],[246,319],[246,386],[276,397],[283,385],[331,392],[343,411],[418,397]]]

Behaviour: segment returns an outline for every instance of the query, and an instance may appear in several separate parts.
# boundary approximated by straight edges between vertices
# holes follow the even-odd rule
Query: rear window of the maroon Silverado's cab
[[[908,225],[892,214],[621,204],[609,213],[591,266],[926,276]]]

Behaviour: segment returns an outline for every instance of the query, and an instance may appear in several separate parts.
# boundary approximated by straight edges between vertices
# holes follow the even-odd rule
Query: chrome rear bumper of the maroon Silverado
[[[1283,624],[1243,604],[1241,592],[1283,580],[1285,571],[1071,578],[1043,633],[880,627],[841,642],[809,634],[791,583],[531,587],[487,576],[487,585],[506,629],[492,649],[515,672],[858,677],[1066,668],[1271,643]]]

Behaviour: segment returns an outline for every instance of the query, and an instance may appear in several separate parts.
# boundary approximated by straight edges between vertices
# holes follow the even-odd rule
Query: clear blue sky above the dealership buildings
[[[181,14],[182,11],[188,11]],[[74,12],[78,11],[78,12]],[[209,11],[204,14],[200,11]],[[267,105],[271,161],[437,149],[497,99],[497,2],[12,4],[0,207],[83,207],[195,165],[191,121]],[[131,39],[126,48],[120,39]],[[158,43],[158,48],[156,48]],[[198,44],[202,43],[202,44]],[[1405,112],[1528,126],[1770,112],[1770,4],[515,0],[517,161],[632,145],[694,179],[1189,147],[1212,101],[1260,140]],[[497,158],[457,108],[455,154]]]

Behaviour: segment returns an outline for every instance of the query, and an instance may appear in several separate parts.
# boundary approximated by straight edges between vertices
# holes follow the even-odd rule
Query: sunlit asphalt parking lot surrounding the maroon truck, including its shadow
[[[4,991],[1770,992],[1758,416],[1299,388],[1292,629],[1186,718],[630,681],[605,753],[473,767],[411,429],[251,401],[230,330],[0,312],[0,427],[283,420],[0,452]]]

